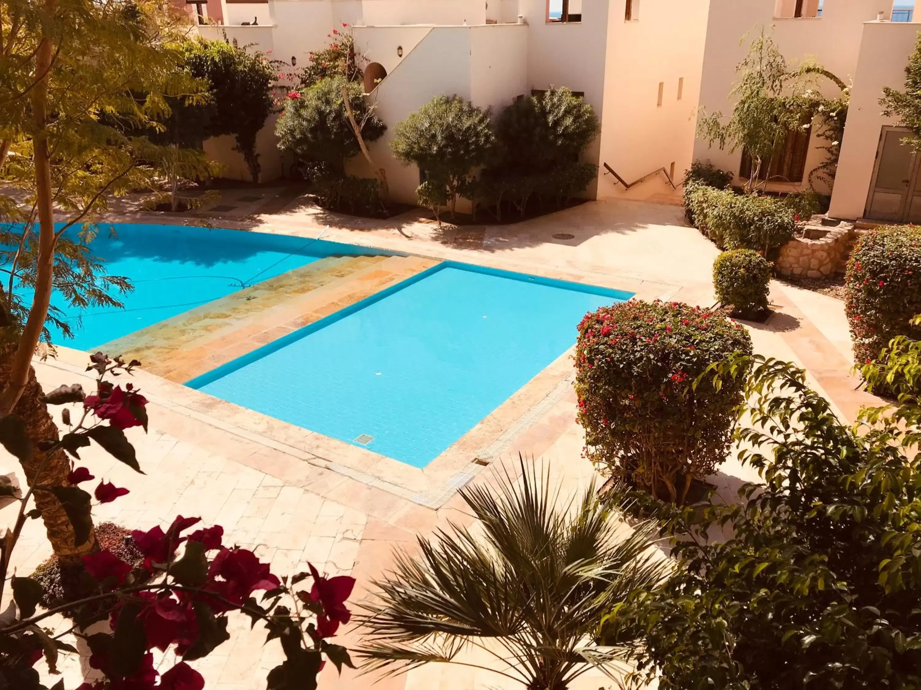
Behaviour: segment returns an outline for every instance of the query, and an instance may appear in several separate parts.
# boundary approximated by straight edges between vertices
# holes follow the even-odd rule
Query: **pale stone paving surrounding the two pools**
[[[162,215],[126,214],[122,220],[178,222]],[[683,223],[681,209],[670,206],[589,202],[523,224],[439,230],[434,224],[411,217],[391,219],[390,224],[348,222],[294,199],[277,213],[222,220],[215,217],[211,223],[305,237],[323,232],[324,239],[433,260],[461,260],[581,280],[631,290],[644,297],[675,298],[701,305],[714,302],[710,270],[717,249]],[[574,237],[554,238],[561,233]],[[756,351],[805,367],[812,385],[832,400],[843,418],[853,420],[859,406],[875,398],[857,391],[857,381],[848,374],[852,360],[843,305],[832,297],[779,282],[772,284],[771,299],[775,316],[766,324],[747,325]],[[253,301],[256,300],[244,301],[235,308],[245,309]],[[279,304],[267,308],[283,307]],[[271,319],[262,322],[256,310],[238,314],[234,322],[239,318],[241,323],[251,324],[253,332],[272,323]],[[290,316],[297,317],[293,311]],[[190,347],[204,346],[211,333],[219,330],[202,335],[203,340],[193,338]],[[150,347],[157,346],[153,339],[148,342]],[[358,579],[356,599],[365,596],[369,581],[388,568],[394,547],[412,548],[417,535],[431,534],[449,521],[472,523],[463,502],[450,491],[442,497],[443,502],[428,507],[412,495],[375,483],[375,479],[386,477],[393,486],[409,487],[412,492],[417,488],[412,484],[416,476],[410,471],[414,468],[396,463],[378,466],[377,474],[368,473],[368,467],[362,466],[367,455],[357,453],[363,449],[347,444],[333,448],[330,458],[322,456],[315,444],[310,445],[313,442],[309,435],[292,436],[291,430],[277,426],[274,420],[240,408],[227,408],[226,403],[183,388],[175,381],[184,374],[174,374],[178,378],[172,381],[167,370],[159,370],[165,376],[155,374],[152,370],[160,355],[150,356],[154,359],[148,357],[146,371],[135,377],[151,399],[150,432],[145,435],[137,429],[129,431],[146,476],[134,474],[95,448],[87,449],[86,464],[93,474],[132,491],[122,500],[95,509],[99,522],[113,520],[146,528],[168,523],[177,513],[201,515],[207,523],[223,524],[229,541],[256,547],[276,572],[292,572],[305,560],[311,560],[330,573],[351,573]],[[62,349],[58,361],[37,361],[42,385],[86,385],[83,358],[81,353]],[[564,493],[583,486],[592,477],[592,468],[580,457],[583,440],[575,422],[575,399],[567,385],[570,372],[565,357],[554,362],[542,373],[544,380],[537,382],[536,388],[529,392],[525,386],[496,410],[498,417],[491,416],[492,421],[478,425],[480,431],[471,432],[474,436],[470,447],[456,449],[461,467],[469,466],[473,455],[490,443],[495,449],[492,465],[481,466],[472,482],[493,481],[500,468],[514,471],[519,453],[542,457]],[[481,432],[482,436],[475,435]],[[489,442],[490,438],[494,441]],[[0,467],[3,472],[15,469],[11,458],[2,451]],[[720,469],[716,481],[726,486],[739,478],[752,478],[751,470],[734,460]],[[358,474],[359,471],[366,474]],[[433,477],[432,481],[436,486],[445,486],[456,474],[453,466],[446,466],[444,476]],[[3,509],[0,521],[9,520],[10,510],[9,506]],[[29,572],[48,553],[41,525],[29,523],[17,549],[17,569],[20,573]],[[278,661],[277,651],[273,646],[262,646],[262,631],[257,627],[251,632],[248,619],[232,625],[231,640],[207,659],[196,662],[205,675],[206,687],[263,688],[267,670]],[[350,631],[344,643],[354,642],[354,636]],[[163,668],[171,663],[171,659],[163,660]],[[64,668],[68,687],[79,684],[79,676],[76,661]],[[321,675],[322,688],[356,690],[372,685],[381,690],[516,686],[495,673],[442,665],[429,665],[386,679],[377,675],[356,677],[352,672],[344,673],[340,679],[332,669]],[[589,673],[572,687],[595,690],[611,685],[612,681],[600,674]]]

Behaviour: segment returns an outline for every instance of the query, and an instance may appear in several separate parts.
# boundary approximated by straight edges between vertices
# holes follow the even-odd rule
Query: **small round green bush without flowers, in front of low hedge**
[[[767,311],[771,263],[752,249],[724,251],[713,262],[717,299],[734,307],[733,316],[758,318]]]

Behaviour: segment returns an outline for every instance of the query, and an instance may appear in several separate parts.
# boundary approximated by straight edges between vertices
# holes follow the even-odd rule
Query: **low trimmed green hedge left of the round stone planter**
[[[688,211],[694,224],[721,249],[755,249],[767,254],[796,231],[796,211],[783,199],[736,194],[692,183]]]

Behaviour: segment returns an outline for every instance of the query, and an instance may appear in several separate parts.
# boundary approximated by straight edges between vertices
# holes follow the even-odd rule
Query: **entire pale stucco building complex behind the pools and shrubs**
[[[921,221],[921,156],[901,144],[903,134],[878,105],[882,86],[903,86],[918,29],[890,21],[892,0],[208,0],[198,6],[223,24],[200,27],[206,38],[255,43],[297,65],[328,45],[332,29],[348,25],[357,52],[386,75],[370,98],[390,129],[372,155],[386,168],[394,199],[407,202],[414,201],[419,173],[390,155],[398,121],[442,94],[495,114],[513,98],[549,86],[581,94],[599,117],[600,136],[585,155],[599,167],[591,198],[673,200],[672,182],[694,159],[741,178],[742,152],[697,138],[696,113],[698,106],[731,111],[735,66],[748,50],[740,39],[764,29],[787,59],[810,56],[853,84],[830,213]],[[911,18],[905,12],[897,10],[900,19]],[[839,90],[831,82],[823,88],[829,96]],[[286,173],[272,125],[259,138],[265,179]],[[788,144],[769,189],[808,187],[828,143],[800,136]],[[206,148],[228,175],[247,177],[228,141]],[[350,167],[370,176],[360,156]]]

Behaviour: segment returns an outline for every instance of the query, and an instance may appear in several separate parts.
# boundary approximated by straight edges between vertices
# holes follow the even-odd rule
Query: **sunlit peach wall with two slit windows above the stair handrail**
[[[624,21],[624,0],[612,0],[600,164],[608,163],[627,182],[674,163],[677,183],[691,164],[706,20],[707,0],[641,0],[635,21]],[[601,167],[600,197],[676,194],[661,174],[624,190],[606,172]]]

